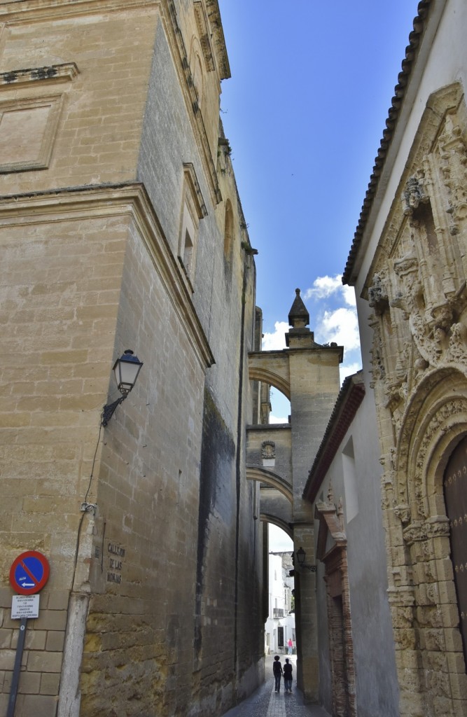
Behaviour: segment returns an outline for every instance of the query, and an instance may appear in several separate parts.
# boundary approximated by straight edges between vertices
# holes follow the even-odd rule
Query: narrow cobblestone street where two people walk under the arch
[[[285,662],[286,655],[280,661]],[[304,705],[303,695],[296,688],[296,655],[289,657],[293,665],[292,693],[285,693],[283,680],[280,692],[274,690],[273,655],[266,657],[266,680],[253,695],[229,710],[223,717],[329,717],[318,705]]]

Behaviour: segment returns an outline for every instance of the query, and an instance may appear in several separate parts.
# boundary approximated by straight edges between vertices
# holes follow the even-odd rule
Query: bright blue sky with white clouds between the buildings
[[[263,348],[285,348],[301,295],[319,343],[359,369],[353,290],[341,285],[417,0],[220,0],[232,77],[222,122],[258,249]],[[278,417],[286,408],[273,399]],[[277,549],[277,548],[275,548]]]

